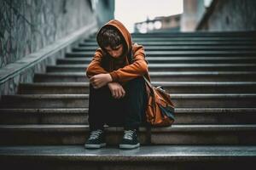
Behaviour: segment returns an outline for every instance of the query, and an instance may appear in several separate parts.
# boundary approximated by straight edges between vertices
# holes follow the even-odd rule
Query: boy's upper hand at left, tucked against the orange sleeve
[[[110,74],[98,74],[93,77],[90,77],[90,83],[93,88],[102,88],[108,82],[112,82],[112,77]]]

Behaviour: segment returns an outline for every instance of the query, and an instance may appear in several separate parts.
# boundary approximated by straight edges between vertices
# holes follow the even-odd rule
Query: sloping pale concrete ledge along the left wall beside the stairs
[[[0,94],[15,94],[20,82],[32,82],[34,73],[45,72],[46,65],[54,65],[55,59],[63,57],[69,48],[79,43],[81,35],[89,36],[84,35],[84,32],[90,34],[96,30],[95,27],[96,23],[84,26],[79,31],[74,31],[67,37],[0,68]]]

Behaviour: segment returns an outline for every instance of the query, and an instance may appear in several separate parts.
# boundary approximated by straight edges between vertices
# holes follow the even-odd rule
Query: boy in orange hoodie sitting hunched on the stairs
[[[145,122],[148,102],[143,76],[148,80],[148,62],[143,46],[132,43],[131,34],[118,20],[110,20],[98,31],[96,50],[88,65],[90,79],[90,137],[85,148],[106,145],[104,124],[124,127],[120,149],[140,146],[137,131]],[[132,62],[128,57],[132,54]]]

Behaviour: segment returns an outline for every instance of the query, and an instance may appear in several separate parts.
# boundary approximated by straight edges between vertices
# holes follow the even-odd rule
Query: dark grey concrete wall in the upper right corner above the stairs
[[[255,31],[256,1],[218,1],[204,25],[208,31]]]

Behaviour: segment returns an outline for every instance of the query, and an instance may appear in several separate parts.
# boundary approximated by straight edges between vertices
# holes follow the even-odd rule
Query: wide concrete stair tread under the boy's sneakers
[[[217,161],[256,159],[255,145],[152,145],[137,150],[85,150],[83,145],[0,146],[0,157],[56,161]]]

